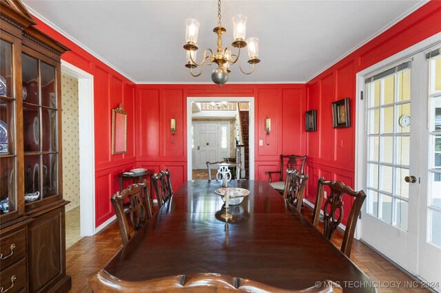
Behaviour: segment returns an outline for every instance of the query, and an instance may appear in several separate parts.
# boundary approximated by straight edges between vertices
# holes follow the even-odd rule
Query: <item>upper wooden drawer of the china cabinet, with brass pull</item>
[[[0,270],[26,254],[26,230],[21,229],[0,239]]]

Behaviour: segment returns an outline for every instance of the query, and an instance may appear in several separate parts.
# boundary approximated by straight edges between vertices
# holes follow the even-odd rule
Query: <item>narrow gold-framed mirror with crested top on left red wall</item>
[[[127,113],[123,104],[112,110],[112,155],[127,153]]]

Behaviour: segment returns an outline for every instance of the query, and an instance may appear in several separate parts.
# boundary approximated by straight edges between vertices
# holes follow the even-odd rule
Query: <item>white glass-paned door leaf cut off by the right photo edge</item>
[[[428,80],[428,93],[422,95],[422,109],[429,109],[424,120],[422,148],[422,192],[418,276],[428,287],[441,292],[441,44],[424,52],[423,80]],[[425,153],[425,152],[422,152]],[[426,196],[424,196],[426,195]]]

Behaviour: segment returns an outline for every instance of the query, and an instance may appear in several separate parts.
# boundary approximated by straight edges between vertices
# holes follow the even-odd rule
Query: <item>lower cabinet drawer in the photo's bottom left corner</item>
[[[26,259],[0,272],[0,289],[5,292],[19,292],[26,287]]]

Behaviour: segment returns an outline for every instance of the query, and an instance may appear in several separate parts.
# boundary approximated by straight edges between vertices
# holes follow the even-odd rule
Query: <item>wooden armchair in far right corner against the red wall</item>
[[[305,162],[306,155],[280,155],[280,170],[265,172],[265,174],[268,174],[269,185],[283,194],[285,190],[285,181],[283,181],[285,170],[295,169],[300,173],[305,173]]]

